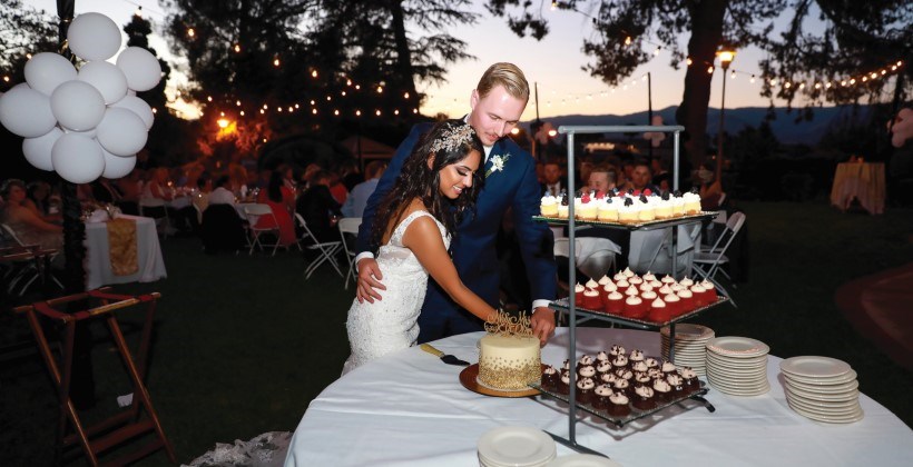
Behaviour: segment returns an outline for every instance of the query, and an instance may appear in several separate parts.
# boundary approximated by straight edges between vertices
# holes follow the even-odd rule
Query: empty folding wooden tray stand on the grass
[[[168,459],[171,463],[176,463],[174,448],[165,437],[165,431],[158,421],[158,414],[156,414],[155,408],[153,408],[151,398],[146,389],[146,385],[143,382],[146,372],[146,356],[149,350],[149,340],[151,337],[153,315],[155,314],[156,300],[158,300],[159,297],[160,295],[158,292],[141,296],[115,295],[109,292],[109,288],[101,288],[48,301],[39,301],[14,309],[18,314],[24,314],[29,320],[29,327],[31,327],[35,338],[38,341],[41,356],[48,366],[52,381],[57,386],[60,418],[57,426],[55,465],[59,465],[62,461],[62,454],[66,447],[79,443],[89,463],[92,466],[97,466],[99,465],[98,455],[100,453],[153,430],[156,435],[155,440],[140,447],[136,451],[128,453],[120,458],[111,460],[110,464],[129,464],[161,448],[165,448]],[[78,300],[87,300],[90,304],[95,302],[98,305],[94,308],[69,314],[61,312],[55,308]],[[146,304],[146,320],[143,326],[143,336],[135,362],[127,347],[127,341],[124,339],[124,334],[120,331],[120,326],[118,326],[115,319],[114,311],[139,304]],[[61,342],[62,348],[59,360],[55,357],[48,344],[48,339],[38,319],[39,314],[63,326],[63,342]],[[72,400],[70,400],[73,340],[78,321],[100,316],[104,316],[108,324],[108,329],[111,331],[111,338],[117,347],[117,351],[120,354],[124,366],[127,368],[127,372],[132,381],[134,400],[128,409],[87,428],[84,427]],[[140,417],[140,404],[145,409],[146,417]],[[75,431],[70,435],[67,435],[68,419]]]

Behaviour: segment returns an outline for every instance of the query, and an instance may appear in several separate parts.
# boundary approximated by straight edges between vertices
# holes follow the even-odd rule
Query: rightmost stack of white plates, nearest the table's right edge
[[[860,382],[845,361],[828,357],[793,357],[779,364],[786,403],[816,421],[851,424],[862,420]]]

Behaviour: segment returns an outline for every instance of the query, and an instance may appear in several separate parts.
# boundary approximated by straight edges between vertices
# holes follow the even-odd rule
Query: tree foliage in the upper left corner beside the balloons
[[[0,90],[26,81],[23,69],[30,53],[57,51],[57,28],[43,11],[6,0],[0,7]]]

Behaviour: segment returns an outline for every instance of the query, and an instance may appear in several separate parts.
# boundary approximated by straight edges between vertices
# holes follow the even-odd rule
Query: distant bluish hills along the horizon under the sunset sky
[[[665,109],[655,110],[655,115],[662,116],[666,125],[674,125],[675,111],[678,107],[667,107]],[[792,112],[786,111],[785,107],[774,109],[776,118],[770,121],[770,129],[777,136],[781,142],[784,143],[806,143],[809,146],[816,145],[822,136],[827,132],[828,128],[843,127],[847,122],[855,121],[858,123],[865,122],[868,119],[871,108],[868,106],[837,106],[837,107],[822,107],[814,110],[811,121],[795,122],[799,110],[794,109]],[[760,122],[767,116],[766,107],[744,107],[739,109],[726,109],[726,132],[733,135],[738,132],[747,126],[759,127]],[[551,122],[554,128],[562,125],[646,125],[649,119],[647,112],[637,112],[626,116],[560,116],[544,119]],[[523,123],[529,128],[529,122]],[[710,108],[707,112],[707,133],[716,135],[719,127],[719,109]]]

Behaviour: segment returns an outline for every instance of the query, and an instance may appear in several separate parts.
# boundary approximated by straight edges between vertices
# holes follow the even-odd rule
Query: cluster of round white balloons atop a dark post
[[[100,13],[78,16],[67,39],[86,63],[77,71],[57,53],[32,56],[26,82],[0,96],[0,123],[26,138],[29,163],[67,181],[124,177],[153,127],[153,109],[136,92],[155,88],[161,67],[138,47],[121,51],[116,64],[107,62],[120,49],[120,30]]]

